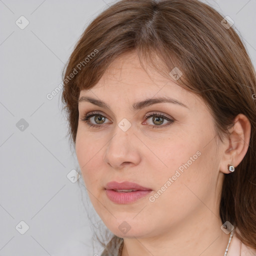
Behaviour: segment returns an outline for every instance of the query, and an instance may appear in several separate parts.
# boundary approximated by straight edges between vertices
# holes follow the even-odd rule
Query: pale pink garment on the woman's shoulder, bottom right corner
[[[236,228],[233,234],[226,256],[256,256],[256,249],[244,244],[237,237],[236,232],[240,234],[238,228]]]

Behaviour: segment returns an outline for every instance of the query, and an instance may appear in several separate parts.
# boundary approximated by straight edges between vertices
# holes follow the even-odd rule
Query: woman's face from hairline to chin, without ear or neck
[[[224,148],[216,145],[212,116],[198,96],[148,73],[129,53],[80,92],[77,159],[96,212],[119,237],[149,237],[218,215]],[[136,191],[115,191],[122,188]]]

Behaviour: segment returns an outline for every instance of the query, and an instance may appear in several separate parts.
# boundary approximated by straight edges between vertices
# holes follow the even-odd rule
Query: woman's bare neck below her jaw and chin
[[[220,217],[206,208],[204,215],[183,219],[161,234],[123,238],[121,256],[224,256],[230,233],[225,234],[221,225]]]

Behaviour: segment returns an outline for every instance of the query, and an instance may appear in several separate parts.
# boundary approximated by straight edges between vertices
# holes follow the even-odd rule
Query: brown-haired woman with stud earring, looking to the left
[[[256,74],[197,0],[121,0],[85,29],[62,100],[101,255],[256,255]]]

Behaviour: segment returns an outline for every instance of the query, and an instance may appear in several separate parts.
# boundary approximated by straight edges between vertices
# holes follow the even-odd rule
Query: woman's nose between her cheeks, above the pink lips
[[[125,166],[135,166],[139,164],[139,141],[133,134],[131,128],[123,131],[116,126],[114,135],[106,147],[103,160],[112,168],[118,170]]]

